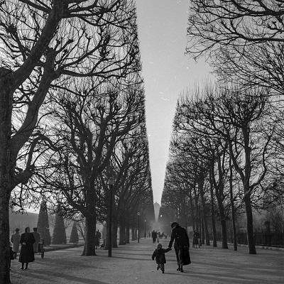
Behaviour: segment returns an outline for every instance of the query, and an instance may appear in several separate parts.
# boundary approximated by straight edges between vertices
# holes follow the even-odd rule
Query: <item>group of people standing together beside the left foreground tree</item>
[[[10,260],[16,259],[20,251],[18,261],[22,264],[21,269],[28,269],[28,263],[33,262],[35,260],[34,254],[38,253],[39,243],[40,234],[38,233],[38,228],[33,228],[31,233],[30,228],[26,227],[23,234],[20,234],[20,229],[16,228],[15,233],[11,236]]]

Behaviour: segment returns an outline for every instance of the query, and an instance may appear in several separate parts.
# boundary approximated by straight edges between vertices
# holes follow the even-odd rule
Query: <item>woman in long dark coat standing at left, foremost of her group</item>
[[[21,269],[28,269],[28,263],[35,260],[35,255],[33,253],[34,243],[35,238],[33,237],[33,234],[30,233],[30,228],[26,227],[25,232],[21,234],[20,240],[21,251],[18,261],[22,263]],[[26,263],[25,268],[23,268],[24,263]]]

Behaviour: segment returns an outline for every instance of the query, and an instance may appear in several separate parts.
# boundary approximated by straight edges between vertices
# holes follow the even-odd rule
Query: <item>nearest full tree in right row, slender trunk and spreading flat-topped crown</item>
[[[249,253],[256,253],[253,239],[251,197],[267,173],[268,145],[273,135],[271,104],[266,89],[207,89],[204,98],[183,104],[193,129],[210,131],[228,143],[229,154],[244,190]],[[201,127],[201,128],[200,128]]]

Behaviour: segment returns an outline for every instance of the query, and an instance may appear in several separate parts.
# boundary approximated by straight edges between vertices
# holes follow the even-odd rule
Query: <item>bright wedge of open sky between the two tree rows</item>
[[[154,202],[160,204],[178,95],[209,67],[185,55],[187,0],[136,0]]]

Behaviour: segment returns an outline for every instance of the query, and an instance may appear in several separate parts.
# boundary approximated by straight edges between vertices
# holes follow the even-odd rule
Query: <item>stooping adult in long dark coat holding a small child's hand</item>
[[[187,236],[187,231],[182,228],[177,222],[173,222],[172,234],[170,236],[170,243],[168,247],[171,249],[173,241],[175,241],[175,256],[177,257],[178,269],[177,271],[183,272],[183,266],[190,264],[190,240]]]

